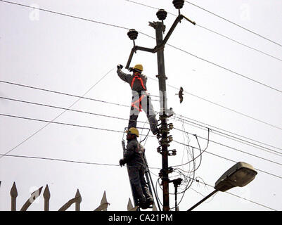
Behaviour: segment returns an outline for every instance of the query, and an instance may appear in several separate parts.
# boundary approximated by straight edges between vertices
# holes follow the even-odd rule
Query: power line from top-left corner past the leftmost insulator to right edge
[[[85,19],[85,18],[80,18],[80,17],[74,16],[74,15],[68,15],[68,14],[65,14],[65,13],[58,13],[58,12],[55,12],[55,11],[49,11],[49,10],[42,9],[42,8],[35,8],[35,7],[32,7],[32,6],[27,6],[27,5],[23,5],[23,4],[16,4],[16,3],[11,2],[11,1],[4,1],[4,0],[0,0],[0,1],[5,2],[5,3],[8,3],[8,4],[15,4],[15,5],[18,5],[18,6],[24,6],[24,7],[27,7],[27,8],[34,8],[34,9],[38,9],[38,10],[41,10],[41,11],[46,11],[46,12],[49,12],[49,13],[56,13],[56,14],[58,14],[58,15],[65,15],[65,16],[68,16],[68,17],[71,17],[71,18],[76,18],[76,19],[80,19],[80,20],[86,20],[86,21],[89,21],[89,22],[99,23],[99,24],[101,24],[101,25],[108,25],[108,26],[112,26],[112,27],[118,27],[118,28],[122,28],[122,29],[125,29],[125,30],[129,30],[129,28],[127,28],[127,27],[122,27],[122,26],[118,26],[118,25],[111,25],[111,24],[109,24],[109,23],[102,23],[102,22],[99,22],[99,21],[96,21],[96,20],[89,20],[89,19]],[[141,33],[141,34],[144,34],[143,32],[140,32],[140,33]],[[144,34],[144,35],[146,35],[147,37],[150,37],[150,38],[155,39],[154,37],[151,37],[151,36],[148,35],[148,34]],[[173,46],[173,45],[171,45],[171,44],[167,44],[167,45],[168,45],[168,46],[171,46],[171,47],[174,48],[174,49],[178,49],[179,51],[183,51],[184,53],[187,53],[187,54],[190,55],[190,56],[193,56],[193,57],[196,57],[196,58],[198,58],[198,59],[200,59],[200,60],[203,60],[203,61],[205,61],[206,63],[210,63],[210,64],[212,64],[212,65],[215,65],[215,66],[217,66],[217,67],[219,67],[219,68],[222,68],[222,69],[224,69],[224,70],[226,70],[226,71],[229,71],[229,72],[231,72],[231,73],[233,73],[233,74],[235,74],[235,75],[238,75],[238,76],[240,76],[240,77],[243,77],[243,78],[245,78],[245,79],[248,79],[248,80],[250,80],[250,81],[252,81],[252,82],[255,82],[255,83],[257,83],[257,84],[260,84],[260,85],[262,85],[262,86],[266,86],[266,87],[268,87],[269,89],[273,89],[274,91],[278,91],[278,92],[280,92],[280,93],[282,94],[282,91],[281,91],[281,90],[276,89],[276,88],[274,88],[274,87],[272,87],[272,86],[269,86],[269,85],[267,85],[267,84],[264,84],[264,83],[262,83],[262,82],[259,82],[259,81],[255,80],[255,79],[252,79],[252,78],[250,78],[250,77],[248,77],[248,76],[246,76],[246,75],[243,75],[243,74],[241,74],[241,73],[239,73],[239,72],[236,72],[236,71],[230,70],[230,69],[228,69],[228,68],[225,68],[224,66],[218,65],[217,63],[212,63],[210,60],[206,60],[206,59],[204,59],[204,58],[201,58],[201,57],[199,57],[199,56],[196,56],[196,55],[194,55],[193,53],[189,53],[188,51],[185,51],[185,50],[183,50],[183,49],[180,49],[180,48],[178,48],[178,47],[176,47],[176,46]]]

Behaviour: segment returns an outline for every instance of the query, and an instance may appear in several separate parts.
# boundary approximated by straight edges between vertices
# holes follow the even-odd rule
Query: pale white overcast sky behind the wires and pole
[[[165,8],[169,13],[177,14],[172,1],[136,1],[155,8]],[[153,37],[155,30],[148,26],[148,21],[158,20],[155,16],[157,10],[125,0],[14,2],[134,28]],[[282,43],[282,1],[193,0],[193,4],[217,13],[279,44]],[[181,13],[196,21],[198,25],[224,34],[271,56],[282,58],[281,46],[231,25],[187,2],[181,9]],[[173,15],[167,15],[167,20],[165,20],[167,30],[174,20]],[[181,22],[168,43],[282,90],[281,60],[224,39],[200,26],[193,26],[186,21]],[[136,44],[153,48],[155,40],[139,33]],[[126,65],[131,49],[132,41],[127,37],[127,30],[0,2],[1,81],[82,96],[105,73],[113,69],[86,94],[86,97],[129,105],[131,91],[129,85],[117,77],[116,65],[119,63]],[[158,73],[156,55],[138,51],[134,54],[131,65],[135,63],[143,64],[143,72],[148,77],[155,78]],[[279,91],[251,82],[170,46],[165,48],[165,70],[169,85],[177,88],[183,86],[184,91],[191,94],[276,127],[282,127],[282,94]],[[158,95],[158,82],[148,79],[147,86],[151,94]],[[172,107],[175,113],[282,148],[281,129],[231,112],[231,110],[203,101],[188,93],[184,94],[184,102],[179,104],[176,93],[177,89],[167,86],[168,108]],[[77,101],[77,98],[74,97],[1,82],[0,96],[56,105],[62,108],[68,108]],[[153,97],[153,99],[156,98]],[[160,108],[158,101],[153,101],[153,106],[156,111]],[[129,118],[129,108],[97,101],[81,99],[72,109]],[[53,120],[63,110],[0,99],[0,112],[39,120]],[[71,111],[63,113],[55,121],[118,131],[123,131],[127,126],[127,120]],[[146,121],[145,113],[141,113],[139,121]],[[169,122],[173,122],[174,127],[182,128],[182,123],[179,121],[169,120]],[[44,127],[46,123],[0,116],[0,124],[0,153],[4,154]],[[140,122],[138,125],[143,126]],[[185,130],[191,134],[207,137],[207,131],[189,124],[184,124],[184,126]],[[148,127],[148,124],[145,127]],[[187,143],[187,139],[184,139],[180,131],[173,130],[171,134],[174,140]],[[198,147],[195,137],[189,135],[189,138],[191,146]],[[195,176],[200,181],[214,185],[219,176],[234,164],[210,153],[236,162],[248,162],[264,172],[258,172],[255,180],[248,186],[230,190],[230,193],[242,198],[228,193],[217,193],[195,210],[270,210],[267,207],[282,210],[282,184],[281,178],[278,177],[282,176],[282,160],[279,154],[282,153],[281,149],[266,146],[279,152],[274,155],[214,133],[210,134],[210,139],[260,158],[210,143],[207,148],[209,153],[203,153],[200,168],[196,170]],[[199,140],[201,147],[204,148],[206,141]],[[117,165],[122,158],[121,141],[122,133],[49,124],[9,154]],[[157,153],[157,147],[157,139],[149,138],[145,145],[146,158],[150,167],[160,168],[161,155]],[[188,161],[184,146],[172,142],[170,148],[177,149],[177,156],[169,157],[169,166]],[[198,151],[196,154],[198,155]],[[268,160],[278,162],[280,165]],[[197,162],[200,161],[197,160]],[[188,167],[183,167],[183,169],[188,169]],[[155,184],[158,176],[154,174],[158,175],[159,169],[151,169],[151,172]],[[9,193],[13,181],[18,188],[17,210],[20,210],[20,207],[30,197],[34,187],[44,186],[45,188],[46,184],[49,185],[51,191],[50,210],[58,210],[70,198],[73,198],[77,188],[82,195],[81,210],[94,210],[98,207],[103,191],[106,191],[110,203],[108,210],[127,210],[127,201],[132,198],[126,167],[4,157],[0,158],[0,180],[2,181],[0,210],[11,210]],[[212,191],[210,186],[194,182],[186,191],[179,209],[187,210]],[[169,186],[169,192],[174,193],[172,184]],[[158,193],[162,200],[160,188],[158,188]],[[179,199],[180,197],[181,195]],[[44,201],[40,196],[29,210],[43,210],[43,207]],[[174,207],[174,195],[170,195],[170,207]],[[74,210],[74,206],[70,210]]]

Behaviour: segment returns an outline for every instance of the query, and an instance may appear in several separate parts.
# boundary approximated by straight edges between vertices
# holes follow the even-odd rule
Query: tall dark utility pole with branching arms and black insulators
[[[162,189],[163,189],[163,211],[169,211],[169,183],[173,181],[169,181],[168,174],[172,172],[172,168],[168,167],[168,156],[169,155],[176,155],[176,150],[168,150],[169,143],[172,141],[172,136],[168,136],[169,130],[173,128],[172,124],[167,124],[167,118],[171,116],[172,114],[168,112],[167,110],[167,88],[166,88],[166,79],[165,76],[165,57],[164,57],[164,48],[165,44],[167,43],[167,40],[169,39],[170,35],[174,31],[175,27],[177,27],[177,24],[181,22],[183,18],[188,20],[190,23],[193,23],[193,25],[196,25],[195,22],[189,20],[184,15],[180,14],[180,8],[184,5],[184,0],[174,0],[172,1],[174,4],[174,7],[178,9],[179,15],[177,16],[176,20],[174,21],[172,27],[167,32],[167,35],[165,36],[165,39],[163,39],[162,34],[165,32],[165,25],[163,23],[163,20],[167,17],[167,12],[163,9],[160,9],[156,15],[158,16],[158,19],[161,20],[161,22],[153,22],[149,23],[151,27],[155,29],[155,39],[156,39],[156,46],[154,49],[148,49],[141,46],[135,45],[135,39],[138,36],[138,32],[134,29],[129,30],[127,33],[129,36],[129,39],[133,40],[134,47],[132,48],[132,51],[129,55],[129,59],[127,60],[127,65],[125,68],[129,69],[130,62],[132,60],[132,57],[134,53],[136,53],[137,50],[141,51],[148,51],[150,53],[157,53],[158,57],[158,77],[159,80],[159,90],[160,90],[160,134],[158,134],[157,138],[160,139],[160,147],[158,147],[158,153],[162,154],[162,169],[160,170],[159,176],[162,179]],[[169,152],[172,153],[169,153]]]

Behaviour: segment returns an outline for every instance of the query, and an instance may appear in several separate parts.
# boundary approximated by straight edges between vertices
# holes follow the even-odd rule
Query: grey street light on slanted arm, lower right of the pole
[[[217,182],[215,182],[215,190],[212,191],[212,193],[200,200],[200,202],[198,202],[196,205],[193,205],[193,207],[191,207],[187,211],[193,210],[198,205],[207,200],[207,198],[210,198],[210,196],[217,193],[217,191],[224,192],[237,186],[243,187],[249,184],[250,181],[255,179],[256,175],[257,172],[255,171],[254,167],[245,162],[237,162],[236,165],[233,165],[233,167],[228,169],[222,176],[220,176]]]

